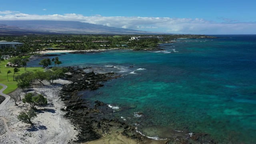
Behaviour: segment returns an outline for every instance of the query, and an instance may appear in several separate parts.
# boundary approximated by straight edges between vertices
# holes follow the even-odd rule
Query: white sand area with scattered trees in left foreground
[[[37,117],[31,121],[34,127],[30,124],[25,124],[18,121],[17,116],[21,111],[29,108],[29,104],[23,104],[18,101],[18,106],[14,106],[14,100],[10,100],[0,111],[0,143],[1,144],[67,144],[69,140],[76,140],[78,132],[74,130],[74,126],[63,117],[65,112],[60,108],[64,107],[64,103],[59,100],[58,93],[61,89],[61,84],[68,84],[66,80],[54,80],[54,85],[47,84],[46,86],[36,85],[34,91],[44,93],[48,106],[38,107],[42,113],[38,113]],[[46,84],[46,82],[44,82]],[[34,92],[32,91],[32,92]],[[4,127],[4,121],[8,128]],[[28,130],[32,129],[32,130]]]

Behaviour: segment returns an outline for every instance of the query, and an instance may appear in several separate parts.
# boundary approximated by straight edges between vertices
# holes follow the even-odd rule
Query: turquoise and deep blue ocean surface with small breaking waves
[[[81,92],[115,110],[142,134],[206,133],[218,143],[256,143],[256,35],[178,39],[162,51],[108,50],[58,56],[60,66],[92,66],[122,78]],[[54,57],[50,57],[54,58]],[[38,66],[40,59],[28,66]]]

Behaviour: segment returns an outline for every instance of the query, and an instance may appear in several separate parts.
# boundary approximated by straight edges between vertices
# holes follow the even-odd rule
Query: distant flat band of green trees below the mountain
[[[40,36],[2,36],[0,40],[24,43],[17,48],[17,52],[37,52],[46,48],[64,48],[69,50],[89,50],[102,48],[152,48],[156,47],[160,40],[148,38],[145,40],[130,40],[131,37],[141,35],[40,35]],[[141,37],[164,37],[162,42],[176,40],[177,38],[214,38],[206,35],[170,34],[170,35],[142,35]],[[9,48],[8,48],[9,49]],[[15,50],[11,50],[13,53]],[[10,53],[10,50],[8,51]],[[5,52],[6,53],[6,52]]]

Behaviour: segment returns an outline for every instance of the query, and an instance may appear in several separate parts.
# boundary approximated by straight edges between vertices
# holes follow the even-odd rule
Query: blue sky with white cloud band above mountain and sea
[[[79,21],[173,34],[256,34],[256,0],[0,0],[0,20]]]

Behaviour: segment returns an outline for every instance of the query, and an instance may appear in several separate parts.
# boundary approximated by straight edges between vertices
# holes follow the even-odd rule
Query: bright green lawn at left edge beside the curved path
[[[14,68],[5,67],[7,62],[8,62],[8,60],[1,60],[1,62],[0,62],[0,71],[1,71],[1,73],[0,73],[0,83],[8,86],[8,88],[6,88],[6,90],[4,90],[4,92],[3,92],[4,94],[8,94],[8,93],[14,91],[17,88],[17,82],[13,81],[13,69]],[[9,82],[7,80],[8,70],[10,70],[12,72],[12,73],[8,74]],[[43,71],[44,68],[42,68],[42,67],[33,67],[33,68],[27,68],[26,71],[24,70],[24,68],[20,68],[20,71],[15,73],[14,77],[19,75],[19,74],[25,73],[25,72],[35,72],[37,70]]]

